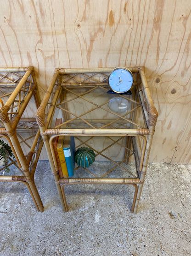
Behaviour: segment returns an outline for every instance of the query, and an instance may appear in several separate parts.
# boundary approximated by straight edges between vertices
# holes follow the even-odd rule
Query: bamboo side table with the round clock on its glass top
[[[131,95],[107,93],[107,80],[113,68],[55,70],[36,119],[64,211],[68,211],[65,185],[126,184],[135,188],[131,212],[137,212],[158,114],[144,70],[139,67],[128,69],[134,77]],[[61,116],[63,123],[54,127],[55,118]],[[76,149],[87,146],[95,151],[96,158],[100,156],[110,161],[111,169],[97,175],[96,171],[99,170],[90,172],[85,168],[87,176],[60,179],[52,140],[63,135],[75,137]],[[107,146],[97,148],[92,141],[95,137],[107,139]],[[110,147],[120,147],[117,150],[123,150],[123,159],[116,160],[108,155],[107,149]],[[133,156],[135,170],[129,171],[129,158]],[[126,178],[118,176],[121,169],[126,173]],[[75,173],[78,173],[78,167]]]

